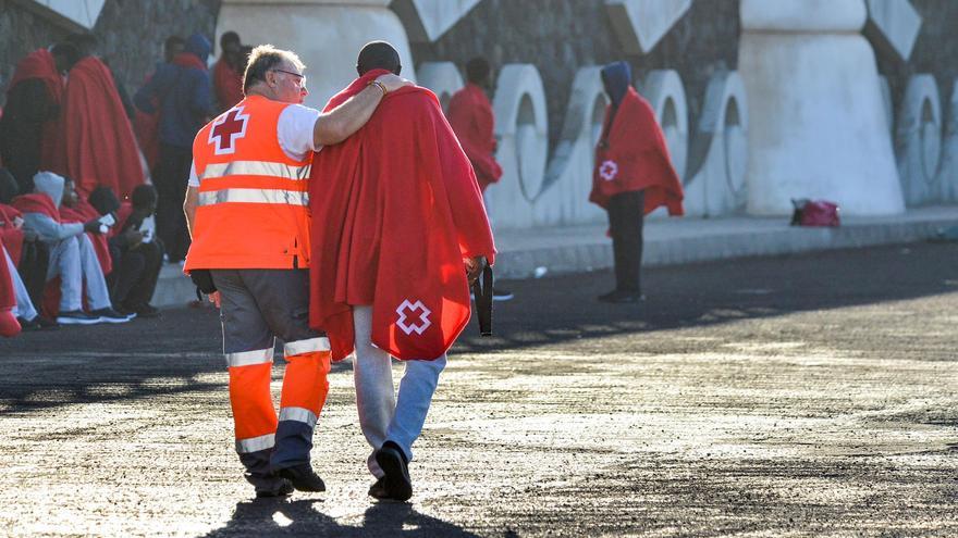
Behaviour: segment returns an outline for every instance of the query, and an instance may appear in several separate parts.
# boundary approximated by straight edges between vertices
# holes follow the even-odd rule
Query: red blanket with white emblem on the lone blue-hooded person
[[[605,208],[615,195],[644,190],[646,214],[665,205],[670,215],[681,215],[681,183],[672,166],[652,107],[629,88],[611,129],[610,112],[611,109],[606,109],[602,128],[606,135],[595,148],[589,201]]]

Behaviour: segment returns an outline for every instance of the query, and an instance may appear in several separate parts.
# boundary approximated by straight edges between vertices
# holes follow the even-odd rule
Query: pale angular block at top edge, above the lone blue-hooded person
[[[691,7],[691,0],[605,0],[609,21],[627,54],[643,54]]]

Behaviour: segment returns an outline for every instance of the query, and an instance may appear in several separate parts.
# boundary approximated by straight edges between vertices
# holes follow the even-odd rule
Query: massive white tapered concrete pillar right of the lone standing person
[[[744,0],[738,73],[748,95],[747,211],[824,198],[845,215],[904,211],[862,0]]]

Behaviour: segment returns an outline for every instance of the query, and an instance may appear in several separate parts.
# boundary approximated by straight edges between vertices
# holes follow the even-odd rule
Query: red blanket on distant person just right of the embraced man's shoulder
[[[502,167],[493,155],[495,136],[492,104],[482,88],[467,84],[450,100],[446,115],[459,145],[476,170],[479,188],[484,192],[486,187],[502,177]]]

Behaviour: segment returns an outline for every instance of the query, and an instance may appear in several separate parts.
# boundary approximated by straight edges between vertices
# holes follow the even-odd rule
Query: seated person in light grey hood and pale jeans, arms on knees
[[[69,190],[66,179],[51,172],[40,172],[34,176],[35,191],[13,200],[13,205],[23,213],[26,225],[36,230],[50,249],[50,264],[47,281],[53,284],[59,277],[59,286],[48,286],[47,296],[59,301],[45,308],[59,310],[57,322],[72,325],[95,323],[124,323],[131,317],[120,315],[110,304],[110,293],[103,277],[103,270],[97,260],[96,250],[85,232],[98,233],[100,223],[91,220],[86,223],[63,223],[60,217],[60,203]],[[75,195],[74,195],[75,196]],[[90,312],[82,310],[84,290]]]

